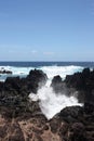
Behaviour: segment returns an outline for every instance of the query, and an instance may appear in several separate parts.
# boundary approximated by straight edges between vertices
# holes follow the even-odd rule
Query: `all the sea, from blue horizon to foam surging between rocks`
[[[12,74],[0,74],[0,81],[4,81],[10,76],[26,77],[30,69],[42,69],[49,78],[45,86],[39,89],[37,94],[29,93],[28,97],[31,101],[40,101],[39,105],[42,113],[48,119],[51,119],[66,106],[83,104],[78,103],[75,93],[71,97],[67,97],[65,91],[58,94],[55,93],[50,87],[52,78],[59,75],[62,79],[65,79],[66,75],[82,72],[85,67],[93,69],[94,62],[0,62],[0,70],[12,72]]]

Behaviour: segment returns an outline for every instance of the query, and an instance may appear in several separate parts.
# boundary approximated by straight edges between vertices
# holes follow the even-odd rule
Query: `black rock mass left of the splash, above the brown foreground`
[[[4,82],[0,82],[0,106],[9,108],[9,115],[19,116],[23,112],[40,111],[38,102],[29,102],[30,92],[37,93],[48,77],[42,70],[30,70],[26,78],[8,77]]]

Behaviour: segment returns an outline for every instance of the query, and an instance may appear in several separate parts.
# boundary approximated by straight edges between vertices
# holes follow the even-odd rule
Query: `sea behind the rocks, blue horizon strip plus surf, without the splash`
[[[0,81],[6,77],[26,77],[30,69],[42,69],[52,79],[59,75],[65,78],[76,72],[81,72],[84,67],[94,68],[94,62],[0,62],[0,70],[11,70],[12,74],[0,74]]]

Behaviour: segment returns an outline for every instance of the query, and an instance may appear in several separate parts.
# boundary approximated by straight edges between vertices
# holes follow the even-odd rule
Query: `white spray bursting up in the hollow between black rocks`
[[[67,97],[66,93],[55,93],[52,87],[45,85],[38,90],[38,93],[30,93],[29,98],[32,101],[39,101],[39,106],[48,119],[59,113],[66,106],[82,105],[78,103],[78,99]]]

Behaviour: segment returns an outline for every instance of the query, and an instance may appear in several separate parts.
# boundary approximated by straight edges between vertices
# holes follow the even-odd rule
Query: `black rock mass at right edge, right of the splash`
[[[84,68],[82,73],[68,75],[65,82],[68,88],[75,88],[80,91],[80,99],[94,104],[94,70],[90,72],[90,68]]]

